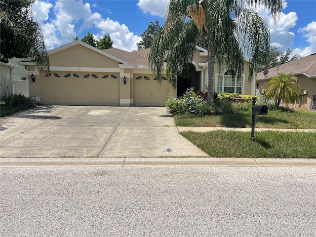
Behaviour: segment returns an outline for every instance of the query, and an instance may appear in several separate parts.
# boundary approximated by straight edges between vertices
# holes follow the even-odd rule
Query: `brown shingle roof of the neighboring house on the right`
[[[278,73],[304,74],[306,76],[316,77],[316,53],[281,64],[278,67],[270,68],[268,71],[269,73],[266,77],[262,72],[257,73],[257,80],[275,77]]]

